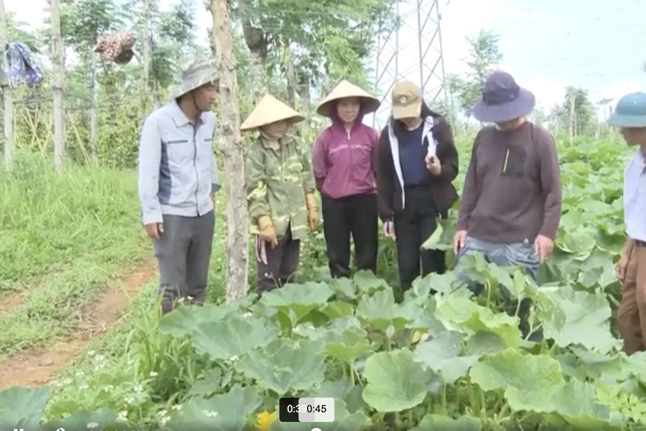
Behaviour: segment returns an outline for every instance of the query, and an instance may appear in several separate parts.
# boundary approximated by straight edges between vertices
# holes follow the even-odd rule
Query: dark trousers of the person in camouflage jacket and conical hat
[[[271,248],[265,244],[267,263],[256,258],[256,293],[260,295],[271,289],[280,288],[291,282],[298,269],[300,240],[291,237],[291,229],[278,238],[278,245]]]

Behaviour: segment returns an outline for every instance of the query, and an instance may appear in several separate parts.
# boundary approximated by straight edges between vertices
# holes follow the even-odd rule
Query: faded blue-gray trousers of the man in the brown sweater
[[[460,249],[457,256],[455,273],[457,280],[461,282],[461,284],[466,284],[475,295],[479,295],[483,291],[484,286],[473,282],[472,280],[468,280],[464,274],[464,269],[461,268],[460,264],[463,256],[474,252],[481,253],[487,262],[498,266],[522,266],[525,268],[527,274],[532,277],[532,279],[536,280],[540,262],[536,256],[536,251],[534,250],[534,244],[532,242],[499,243],[466,237],[464,247]],[[516,301],[511,299],[506,288],[503,286],[499,287],[507,313],[515,315],[517,308]],[[528,319],[531,307],[532,300],[528,298],[522,299],[520,306],[518,307],[518,317],[520,319],[518,328],[521,330],[523,338],[526,338],[530,332]],[[529,339],[536,342],[541,341],[543,339],[543,331],[541,328],[534,330]]]

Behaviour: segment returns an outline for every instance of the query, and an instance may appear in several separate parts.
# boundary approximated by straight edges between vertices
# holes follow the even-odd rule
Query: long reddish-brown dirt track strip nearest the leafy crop
[[[97,335],[118,322],[130,297],[155,275],[154,260],[121,276],[114,285],[89,304],[79,322],[79,330],[67,340],[43,348],[33,348],[0,362],[0,390],[11,386],[37,386],[70,364]]]

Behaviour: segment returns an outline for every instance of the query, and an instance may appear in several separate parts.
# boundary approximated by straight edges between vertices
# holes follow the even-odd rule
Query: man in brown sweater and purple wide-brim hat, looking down
[[[500,266],[523,266],[534,279],[552,253],[561,218],[559,161],[550,133],[525,120],[535,103],[534,94],[497,71],[474,106],[476,120],[495,126],[475,137],[464,180],[453,238],[459,279],[464,279],[461,258],[473,252]],[[470,288],[477,294],[482,286]],[[515,313],[508,292],[501,290]],[[541,331],[529,334],[530,306],[530,300],[521,301],[519,328],[524,338],[538,341]]]

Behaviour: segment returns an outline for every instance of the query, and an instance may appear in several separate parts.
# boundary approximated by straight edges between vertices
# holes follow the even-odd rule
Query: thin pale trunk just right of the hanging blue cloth
[[[63,43],[61,41],[61,3],[50,0],[52,19],[52,87],[54,89],[54,166],[63,169],[65,155],[65,112],[63,106]]]

